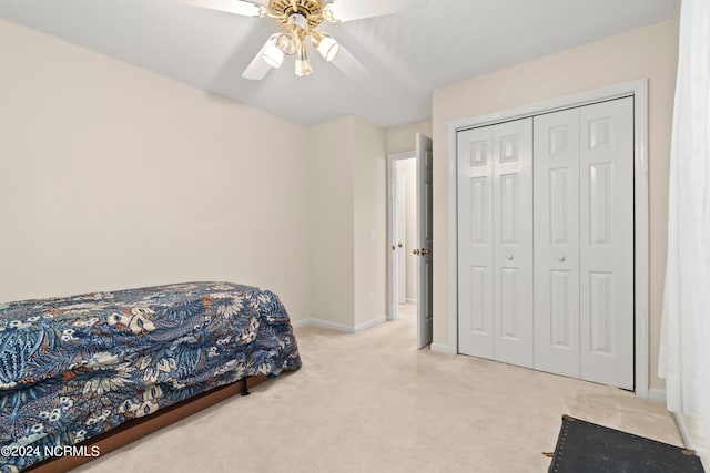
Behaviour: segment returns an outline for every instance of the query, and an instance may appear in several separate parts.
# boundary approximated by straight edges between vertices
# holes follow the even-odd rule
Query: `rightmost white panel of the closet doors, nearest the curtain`
[[[580,109],[581,378],[633,389],[633,99]]]

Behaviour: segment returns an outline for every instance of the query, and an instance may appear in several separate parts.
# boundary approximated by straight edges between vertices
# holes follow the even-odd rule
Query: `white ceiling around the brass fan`
[[[676,3],[429,0],[397,14],[320,27],[366,75],[347,76],[312,53],[313,75],[295,76],[286,58],[260,82],[241,74],[280,30],[268,18],[181,0],[2,0],[0,17],[297,123],[355,114],[388,127],[430,119],[435,88],[663,21]]]

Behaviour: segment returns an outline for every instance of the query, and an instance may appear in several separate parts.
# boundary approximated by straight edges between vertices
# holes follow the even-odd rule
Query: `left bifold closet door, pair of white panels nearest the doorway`
[[[532,120],[458,133],[459,351],[534,364]]]

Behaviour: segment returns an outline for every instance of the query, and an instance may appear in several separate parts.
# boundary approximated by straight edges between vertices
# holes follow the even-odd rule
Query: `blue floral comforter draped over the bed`
[[[212,388],[300,367],[278,297],[247,286],[0,304],[0,472]]]

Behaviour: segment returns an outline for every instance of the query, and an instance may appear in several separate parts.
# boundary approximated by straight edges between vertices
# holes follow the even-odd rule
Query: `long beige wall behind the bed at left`
[[[0,20],[0,301],[184,280],[308,318],[306,128]]]

